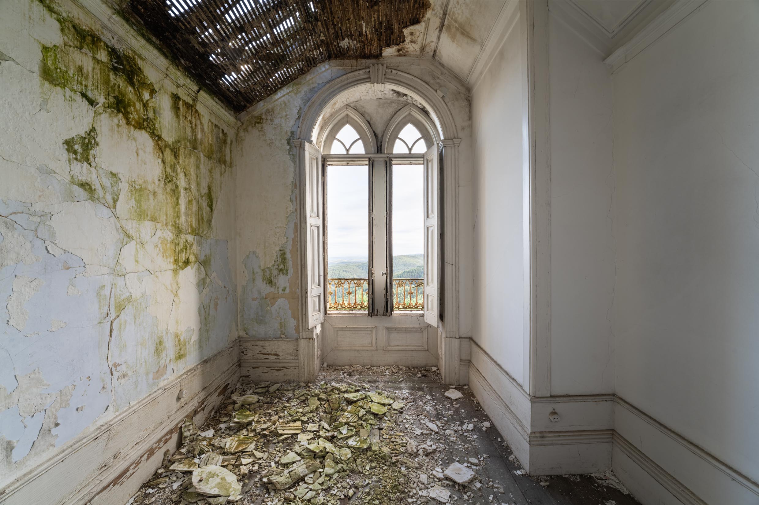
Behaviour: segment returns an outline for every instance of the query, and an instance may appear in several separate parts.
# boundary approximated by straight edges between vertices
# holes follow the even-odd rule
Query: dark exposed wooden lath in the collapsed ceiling
[[[128,0],[199,83],[243,111],[323,61],[379,58],[430,0]]]

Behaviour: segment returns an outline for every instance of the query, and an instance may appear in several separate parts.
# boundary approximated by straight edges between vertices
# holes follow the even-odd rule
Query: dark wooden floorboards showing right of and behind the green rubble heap
[[[395,367],[389,367],[391,373],[386,374],[385,367],[373,367],[372,369],[352,369],[349,379],[355,382],[376,384],[377,389],[383,391],[424,391],[436,404],[452,404],[444,393],[449,386],[439,382],[436,373],[424,372],[424,377],[416,377],[411,373],[398,373]],[[393,370],[394,369],[394,370]],[[409,369],[407,369],[409,370]],[[416,369],[417,371],[420,369]],[[330,368],[322,373],[321,380],[339,379],[335,375],[337,369]],[[481,421],[488,420],[487,414],[480,408],[468,388],[457,388],[465,397],[456,401],[456,407],[451,410],[434,409],[427,413],[430,418],[437,417],[441,425],[441,431],[445,431],[446,422],[465,422],[474,418]],[[443,419],[447,417],[447,419]],[[493,488],[483,486],[478,491],[473,491],[468,486],[472,495],[461,497],[460,491],[452,491],[458,495],[457,500],[449,503],[467,503],[468,505],[639,505],[629,494],[625,494],[614,487],[616,479],[605,479],[606,475],[559,475],[552,477],[531,477],[530,475],[517,475],[521,473],[521,465],[512,451],[505,444],[503,438],[495,428],[477,432],[478,437],[468,444],[455,441],[446,441],[443,444],[442,459],[452,463],[458,460],[467,460],[469,457],[488,454],[490,457],[487,465],[477,468],[477,474],[492,480],[496,485]],[[502,488],[502,492],[499,492]],[[493,497],[490,500],[490,496]],[[428,500],[430,505],[439,505],[435,500]]]

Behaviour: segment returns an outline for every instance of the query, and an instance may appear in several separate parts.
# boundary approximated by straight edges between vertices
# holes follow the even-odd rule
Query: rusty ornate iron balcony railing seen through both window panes
[[[393,310],[424,310],[424,279],[392,279]],[[368,279],[327,279],[327,310],[369,310]]]

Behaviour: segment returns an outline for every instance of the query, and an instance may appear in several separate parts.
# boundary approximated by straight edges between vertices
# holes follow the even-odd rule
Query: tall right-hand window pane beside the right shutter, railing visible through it
[[[392,307],[424,310],[424,168],[392,167]]]

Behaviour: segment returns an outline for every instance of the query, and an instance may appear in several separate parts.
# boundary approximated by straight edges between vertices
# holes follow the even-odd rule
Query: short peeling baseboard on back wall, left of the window
[[[243,381],[298,381],[298,339],[241,336],[240,374]]]

